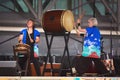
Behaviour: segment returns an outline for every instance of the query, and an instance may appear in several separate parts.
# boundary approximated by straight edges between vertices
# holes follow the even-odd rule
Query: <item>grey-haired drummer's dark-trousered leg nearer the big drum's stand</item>
[[[91,62],[92,61],[90,58],[76,56],[75,68],[76,68],[76,71],[78,72],[78,74],[82,75],[83,73],[85,73],[88,70]]]

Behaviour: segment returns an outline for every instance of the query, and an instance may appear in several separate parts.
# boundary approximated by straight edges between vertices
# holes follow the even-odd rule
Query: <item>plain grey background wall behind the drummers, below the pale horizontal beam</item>
[[[18,32],[1,32],[0,33],[0,42],[3,42],[7,39],[10,39],[13,36],[16,36],[17,34],[18,34]],[[77,39],[78,41],[73,40],[71,37],[74,39]],[[13,55],[13,45],[18,44],[17,38],[18,37],[14,38],[12,40],[9,40],[3,44],[0,44],[0,56]],[[40,56],[46,56],[47,44],[46,44],[45,34],[41,33],[40,38],[41,38],[41,42],[39,43]],[[50,39],[50,36],[49,36],[49,39]],[[82,52],[82,42],[83,42],[82,39],[83,39],[83,37],[78,37],[75,34],[70,35],[68,47],[69,47],[69,52],[70,52],[71,56],[75,56],[77,53]],[[110,51],[111,51],[111,39],[106,37],[106,36],[103,36],[102,41],[103,41],[103,51],[106,53],[110,53]],[[118,38],[112,37],[112,43],[113,43],[112,44],[113,55],[120,55],[119,54],[120,41],[118,40]],[[64,42],[63,36],[54,37],[53,44],[51,47],[52,55],[55,55],[55,56],[63,55],[64,46],[65,46],[65,42]],[[116,52],[117,50],[118,50],[118,52]]]

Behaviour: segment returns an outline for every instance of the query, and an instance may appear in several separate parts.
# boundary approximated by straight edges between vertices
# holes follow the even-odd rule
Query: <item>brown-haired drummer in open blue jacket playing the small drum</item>
[[[33,19],[29,19],[27,21],[27,25],[26,25],[27,27],[20,32],[18,41],[19,43],[22,44],[28,44],[31,47],[30,61],[34,64],[37,75],[40,76],[40,66],[39,66],[38,58],[36,58],[36,55],[34,55],[34,45],[40,42],[40,32],[35,29],[34,23],[35,22]],[[24,64],[25,62],[24,60],[21,60],[22,61],[22,63],[20,62],[21,65]]]

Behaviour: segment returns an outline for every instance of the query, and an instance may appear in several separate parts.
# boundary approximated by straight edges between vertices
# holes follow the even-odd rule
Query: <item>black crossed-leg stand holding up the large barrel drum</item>
[[[48,35],[51,35],[50,40],[48,40]],[[52,45],[52,42],[53,42],[53,38],[55,36],[64,36],[64,40],[65,40],[65,48],[64,48],[63,56],[61,58],[61,67],[60,67],[59,75],[61,74],[62,70],[65,70],[65,69],[62,69],[62,66],[63,66],[62,63],[63,63],[63,59],[65,57],[66,52],[67,52],[68,63],[69,63],[69,67],[70,67],[69,71],[71,72],[71,75],[72,75],[72,67],[70,65],[70,55],[69,55],[69,50],[68,50],[69,35],[70,35],[70,32],[57,33],[57,34],[56,33],[47,33],[47,32],[45,32],[48,52],[47,52],[47,58],[46,58],[46,61],[45,61],[43,73],[42,73],[43,76],[44,76],[44,73],[46,71],[46,64],[47,64],[48,59],[50,60],[52,76],[54,76],[53,64],[52,64],[53,62],[52,62],[52,56],[51,56],[51,45]]]

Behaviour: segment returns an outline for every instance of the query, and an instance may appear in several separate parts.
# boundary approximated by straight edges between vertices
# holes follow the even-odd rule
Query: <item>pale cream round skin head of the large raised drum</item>
[[[61,16],[61,24],[64,29],[70,32],[74,26],[74,16],[70,10],[65,10]]]

